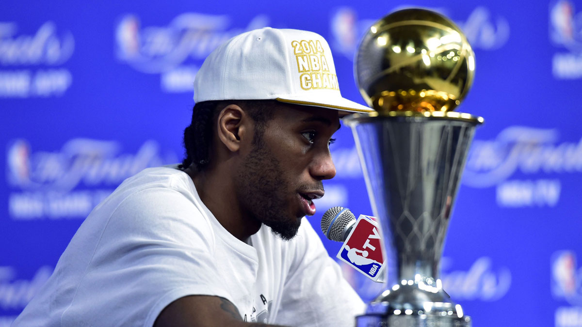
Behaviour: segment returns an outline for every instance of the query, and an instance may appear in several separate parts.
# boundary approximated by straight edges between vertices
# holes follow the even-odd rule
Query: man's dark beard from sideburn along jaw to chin
[[[236,175],[237,196],[251,219],[269,226],[281,239],[290,240],[297,234],[301,219],[286,216],[289,211],[286,192],[292,188],[282,178],[285,174],[281,163],[261,138],[255,136],[253,150]]]

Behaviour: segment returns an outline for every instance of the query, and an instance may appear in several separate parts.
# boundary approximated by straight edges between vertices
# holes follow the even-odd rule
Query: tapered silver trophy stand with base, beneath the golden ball
[[[344,120],[352,127],[388,261],[385,290],[358,326],[470,326],[442,289],[438,266],[469,145],[482,120],[459,113]]]

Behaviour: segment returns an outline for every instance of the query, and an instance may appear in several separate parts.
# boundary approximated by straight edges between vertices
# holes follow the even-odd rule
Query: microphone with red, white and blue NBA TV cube
[[[384,281],[386,262],[376,218],[356,217],[347,208],[333,207],[321,218],[321,230],[332,241],[343,242],[336,257],[374,282]]]

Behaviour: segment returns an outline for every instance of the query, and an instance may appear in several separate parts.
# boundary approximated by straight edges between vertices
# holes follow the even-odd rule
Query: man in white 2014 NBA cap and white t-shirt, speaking
[[[186,159],[123,182],[81,225],[15,326],[352,326],[363,303],[301,218],[315,213],[339,117],[327,42],[265,28],[194,82]]]

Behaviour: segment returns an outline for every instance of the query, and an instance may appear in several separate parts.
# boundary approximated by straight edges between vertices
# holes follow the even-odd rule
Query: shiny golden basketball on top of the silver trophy
[[[407,9],[370,27],[356,70],[362,96],[379,112],[451,111],[473,83],[475,56],[455,23]]]

